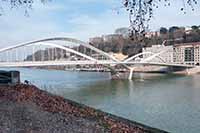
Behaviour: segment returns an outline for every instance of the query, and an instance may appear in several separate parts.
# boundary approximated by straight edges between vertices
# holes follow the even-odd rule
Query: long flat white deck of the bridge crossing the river
[[[193,68],[193,65],[158,63],[158,62],[124,62],[124,61],[24,61],[24,62],[0,62],[0,67],[37,67],[37,66],[73,66],[73,65],[153,65],[153,66],[172,66]]]

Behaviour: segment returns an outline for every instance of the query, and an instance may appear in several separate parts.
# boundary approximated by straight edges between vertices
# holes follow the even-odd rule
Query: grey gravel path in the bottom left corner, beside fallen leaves
[[[0,132],[3,133],[101,133],[95,121],[43,111],[33,103],[0,100]]]

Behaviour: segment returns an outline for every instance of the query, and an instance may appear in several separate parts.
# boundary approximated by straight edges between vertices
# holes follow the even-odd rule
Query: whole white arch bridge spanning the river
[[[67,37],[55,37],[0,49],[0,67],[83,66],[90,68],[104,66],[113,71],[116,65],[122,66],[127,71],[132,70],[131,66],[134,65],[193,67],[165,62],[160,55],[166,51],[139,53],[120,61],[87,42]],[[144,55],[148,56],[140,58]],[[140,60],[137,60],[138,58]],[[153,62],[155,58],[158,61]]]

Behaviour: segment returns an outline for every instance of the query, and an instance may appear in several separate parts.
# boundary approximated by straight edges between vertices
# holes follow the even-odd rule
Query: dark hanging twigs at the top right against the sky
[[[149,27],[149,21],[153,17],[154,10],[158,8],[159,4],[172,6],[172,0],[123,0],[123,2],[124,7],[129,12],[130,36],[133,39],[144,36]],[[194,10],[194,6],[198,3],[199,0],[182,0],[180,11],[185,13],[188,6]]]

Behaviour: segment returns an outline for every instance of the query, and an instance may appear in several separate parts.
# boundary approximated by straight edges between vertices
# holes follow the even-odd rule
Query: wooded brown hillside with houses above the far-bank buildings
[[[129,38],[128,30],[128,28],[119,28],[114,34],[91,38],[90,44],[105,52],[131,56],[141,52],[143,47],[162,44],[165,40],[168,40],[165,45],[200,41],[200,25],[161,27],[159,31],[147,32],[141,41]]]

